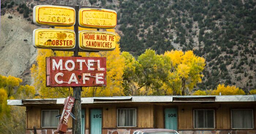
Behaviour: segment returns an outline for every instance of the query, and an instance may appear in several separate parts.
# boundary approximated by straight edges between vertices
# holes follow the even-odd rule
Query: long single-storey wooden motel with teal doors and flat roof
[[[26,134],[53,134],[65,98],[8,100],[26,107]],[[180,134],[256,134],[256,95],[82,98],[82,134],[132,134],[165,128]],[[67,134],[72,133],[69,117]]]

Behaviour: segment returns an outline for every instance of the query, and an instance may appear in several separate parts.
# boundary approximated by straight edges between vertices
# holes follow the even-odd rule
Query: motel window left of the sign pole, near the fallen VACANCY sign
[[[58,127],[59,110],[42,110],[42,127]]]

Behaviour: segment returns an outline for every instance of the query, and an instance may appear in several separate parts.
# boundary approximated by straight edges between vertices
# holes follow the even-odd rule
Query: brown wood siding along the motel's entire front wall
[[[90,109],[102,109],[102,129],[124,128],[117,127],[118,108],[137,109],[137,128],[164,128],[164,109],[176,107],[178,110],[178,130],[196,130],[193,123],[193,110],[214,109],[215,110],[215,130],[231,129],[231,109],[253,109],[254,129],[256,128],[256,102],[234,102],[234,103],[108,103],[83,105],[85,109],[85,129],[90,128]],[[62,113],[63,106],[33,106],[26,107],[27,129],[41,128],[41,110],[58,109]],[[72,128],[72,118],[69,118],[68,127]],[[127,127],[125,127],[127,128]],[[213,129],[214,130],[214,129]]]

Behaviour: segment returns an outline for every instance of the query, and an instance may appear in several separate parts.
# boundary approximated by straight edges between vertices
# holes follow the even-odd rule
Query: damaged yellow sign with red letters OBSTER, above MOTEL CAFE
[[[68,29],[34,29],[33,45],[35,48],[72,49],[75,47],[75,32]]]

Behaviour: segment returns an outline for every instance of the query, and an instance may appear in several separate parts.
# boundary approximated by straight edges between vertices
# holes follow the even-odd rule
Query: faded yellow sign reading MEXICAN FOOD
[[[33,21],[38,25],[69,27],[75,24],[75,9],[55,5],[37,5],[33,9]]]

